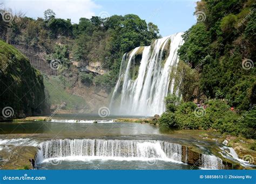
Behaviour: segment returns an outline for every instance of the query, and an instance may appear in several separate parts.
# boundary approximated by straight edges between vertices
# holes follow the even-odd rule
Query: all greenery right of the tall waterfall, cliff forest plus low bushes
[[[184,102],[168,96],[161,125],[255,138],[255,8],[251,0],[197,3],[198,22],[179,49],[176,83]]]

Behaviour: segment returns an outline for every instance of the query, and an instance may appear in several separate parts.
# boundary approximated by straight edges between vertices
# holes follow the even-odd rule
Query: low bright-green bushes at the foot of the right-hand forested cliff
[[[165,128],[217,130],[234,136],[256,137],[256,110],[239,115],[223,100],[208,100],[205,108],[198,108],[193,102],[178,104],[175,97],[166,97],[167,111],[161,115],[159,125]],[[244,117],[244,118],[242,118]]]

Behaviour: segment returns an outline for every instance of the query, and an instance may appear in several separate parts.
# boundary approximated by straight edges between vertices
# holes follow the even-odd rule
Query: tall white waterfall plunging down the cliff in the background
[[[124,54],[114,88],[111,114],[153,116],[165,110],[168,93],[178,95],[173,74],[183,33],[157,39],[150,46]]]

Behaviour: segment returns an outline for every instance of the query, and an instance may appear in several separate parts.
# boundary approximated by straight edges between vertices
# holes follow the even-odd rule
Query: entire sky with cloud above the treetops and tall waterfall
[[[169,36],[188,30],[196,19],[193,16],[194,0],[0,0],[6,8],[22,11],[28,17],[43,17],[44,10],[50,8],[58,18],[71,18],[78,23],[80,17],[126,15],[133,13],[153,22],[161,36]]]

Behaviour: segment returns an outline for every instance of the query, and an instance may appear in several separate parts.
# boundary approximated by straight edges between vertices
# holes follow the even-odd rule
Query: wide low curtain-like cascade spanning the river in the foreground
[[[181,145],[158,140],[56,139],[44,141],[39,147],[37,162],[65,157],[181,162]]]

